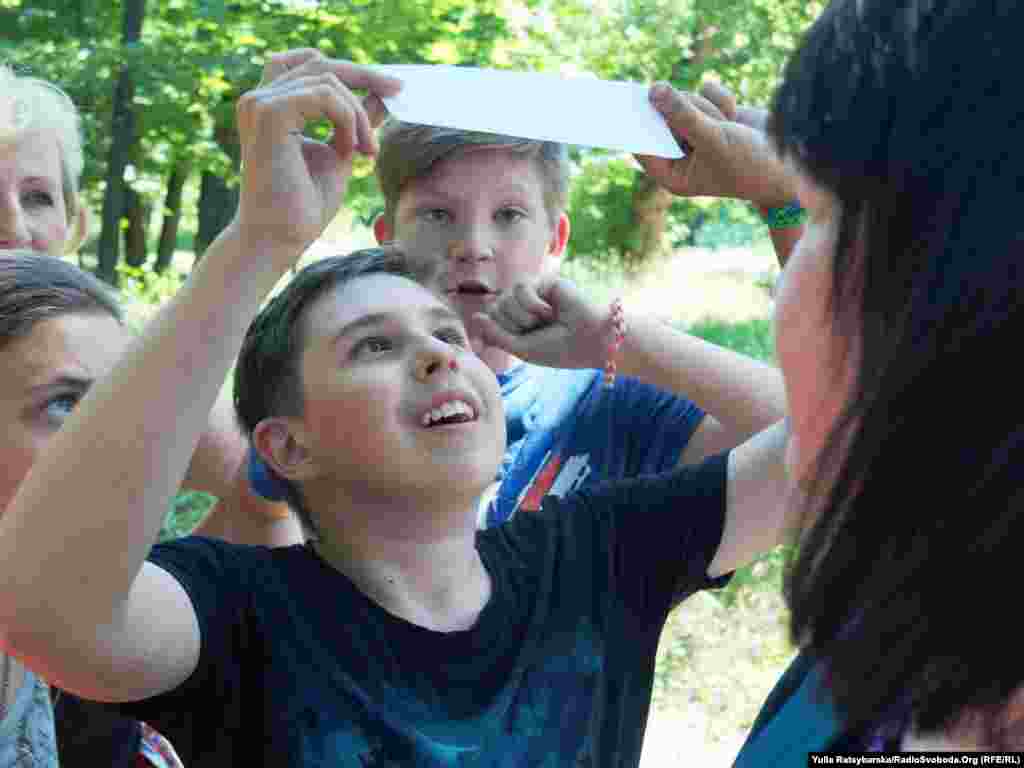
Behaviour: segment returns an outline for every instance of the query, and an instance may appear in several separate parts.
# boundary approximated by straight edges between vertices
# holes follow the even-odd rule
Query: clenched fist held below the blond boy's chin
[[[601,368],[611,327],[607,307],[592,304],[564,278],[519,283],[486,313],[474,315],[470,336],[527,362],[549,368]]]

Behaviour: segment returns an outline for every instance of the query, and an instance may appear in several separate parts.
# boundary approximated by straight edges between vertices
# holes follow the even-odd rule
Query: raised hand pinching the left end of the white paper
[[[368,68],[325,57],[311,48],[272,56],[259,87],[238,102],[242,188],[238,229],[264,252],[301,253],[338,212],[352,155],[377,151],[374,128],[384,116],[382,96],[400,81]],[[369,95],[360,101],[350,88]],[[327,120],[327,142],[302,135]]]

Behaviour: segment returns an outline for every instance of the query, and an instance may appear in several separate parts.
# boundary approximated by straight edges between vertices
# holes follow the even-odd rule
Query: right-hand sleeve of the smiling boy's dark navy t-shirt
[[[727,466],[724,453],[657,475],[548,497],[545,513],[565,516],[566,538],[588,542],[606,558],[607,583],[632,614],[660,615],[729,580],[708,577],[725,528]]]

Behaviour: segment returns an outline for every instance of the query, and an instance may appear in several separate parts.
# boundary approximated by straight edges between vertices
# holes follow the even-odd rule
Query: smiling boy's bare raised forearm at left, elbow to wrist
[[[0,523],[0,622],[12,635],[44,638],[113,621],[245,329],[276,280],[269,267],[254,274],[242,253],[233,234],[211,247],[52,438],[8,507]]]

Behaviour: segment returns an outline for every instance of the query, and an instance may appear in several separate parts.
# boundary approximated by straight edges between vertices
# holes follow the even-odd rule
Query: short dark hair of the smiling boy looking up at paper
[[[302,415],[300,359],[310,307],[329,291],[371,274],[395,274],[417,282],[426,276],[395,246],[322,259],[299,270],[253,321],[234,368],[234,410],[250,438],[264,419]],[[299,489],[285,478],[275,479],[302,524],[315,532],[315,521]]]

